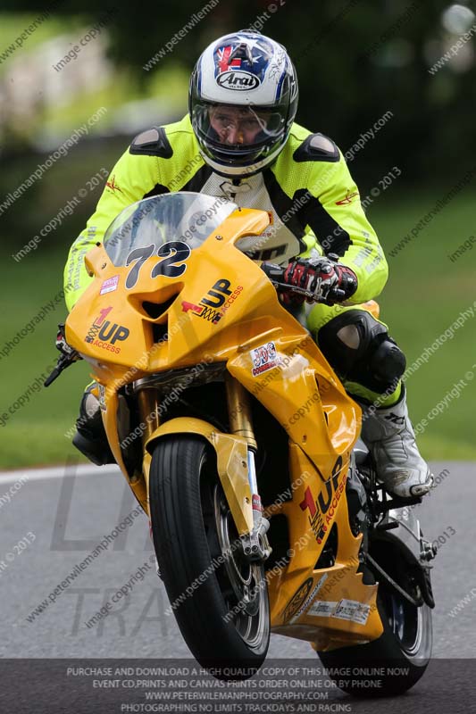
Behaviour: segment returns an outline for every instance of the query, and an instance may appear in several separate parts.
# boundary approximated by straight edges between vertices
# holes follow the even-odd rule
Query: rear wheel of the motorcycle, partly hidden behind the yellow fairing
[[[394,558],[385,560],[386,569],[391,568],[389,574],[405,592],[418,595],[411,569],[405,567],[397,550],[393,555]],[[381,697],[404,693],[418,682],[430,662],[433,642],[430,607],[426,603],[421,607],[414,606],[385,581],[380,582],[377,605],[383,625],[383,633],[378,639],[331,652],[318,652],[322,664],[330,670],[330,678],[340,689],[354,696]]]

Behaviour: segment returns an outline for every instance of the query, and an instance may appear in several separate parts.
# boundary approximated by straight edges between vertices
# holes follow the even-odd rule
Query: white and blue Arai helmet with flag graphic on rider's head
[[[224,35],[201,54],[188,111],[205,162],[221,176],[252,176],[276,160],[297,110],[286,49],[254,30]]]

